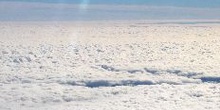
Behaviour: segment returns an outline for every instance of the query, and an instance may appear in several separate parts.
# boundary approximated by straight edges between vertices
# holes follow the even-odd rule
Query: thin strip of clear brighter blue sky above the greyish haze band
[[[219,8],[220,0],[0,0],[0,1],[22,1],[43,3],[82,3],[90,4],[138,4],[154,6],[176,6],[176,7],[208,7]]]

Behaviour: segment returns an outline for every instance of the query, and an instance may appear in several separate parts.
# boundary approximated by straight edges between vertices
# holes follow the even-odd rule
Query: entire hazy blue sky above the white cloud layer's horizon
[[[220,19],[220,0],[0,0],[0,21]]]

